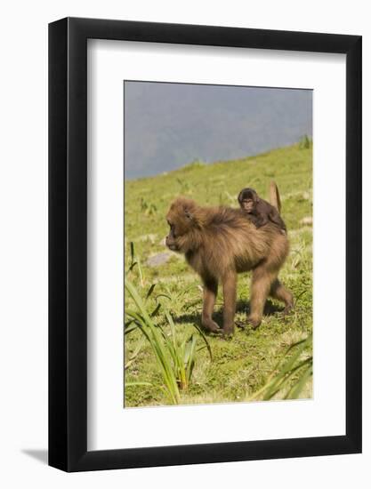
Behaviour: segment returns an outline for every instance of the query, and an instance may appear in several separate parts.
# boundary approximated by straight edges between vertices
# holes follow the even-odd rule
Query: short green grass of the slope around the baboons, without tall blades
[[[189,196],[198,204],[237,206],[238,192],[253,187],[267,197],[270,180],[278,183],[282,217],[286,221],[291,252],[280,279],[294,293],[294,312],[281,317],[281,305],[269,301],[262,325],[253,330],[236,329],[230,340],[208,335],[213,353],[206,348],[195,354],[190,382],[180,390],[181,404],[235,402],[263,399],[283,357],[292,355],[289,347],[307,338],[312,331],[312,229],[302,219],[312,215],[312,148],[296,144],[259,156],[235,161],[202,164],[194,162],[174,172],[125,182],[125,271],[146,303],[154,325],[171,334],[166,311],[173,317],[177,341],[187,341],[199,326],[202,292],[198,276],[181,255],[171,254],[165,264],[150,267],[149,257],[166,253],[165,213],[177,196]],[[131,245],[133,243],[133,245]],[[136,262],[136,263],[135,263]],[[133,265],[134,263],[134,265]],[[150,290],[151,289],[151,290]],[[150,293],[149,293],[150,292]],[[146,299],[147,294],[149,297]],[[249,274],[238,279],[236,319],[246,322],[249,299]],[[125,307],[134,309],[125,296]],[[222,295],[215,308],[216,321],[222,323]],[[125,318],[127,321],[127,317]],[[130,327],[130,326],[129,326]],[[198,339],[199,344],[203,342]],[[298,361],[311,357],[311,342],[305,343]],[[170,404],[164,380],[149,341],[143,341],[138,329],[125,335],[125,406]],[[290,397],[297,383],[293,373],[269,398]],[[299,397],[311,397],[311,376],[300,389]],[[264,394],[265,393],[265,394]]]

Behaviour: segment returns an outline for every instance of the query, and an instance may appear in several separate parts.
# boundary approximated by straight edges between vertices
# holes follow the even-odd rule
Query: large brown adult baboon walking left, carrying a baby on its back
[[[277,185],[270,183],[270,204],[280,210]],[[236,311],[237,274],[252,270],[249,323],[256,328],[268,295],[293,307],[293,294],[278,280],[288,253],[286,234],[272,222],[255,228],[245,211],[229,207],[201,207],[180,197],[166,215],[170,226],[166,245],[184,253],[204,284],[202,325],[215,333],[232,334]],[[213,310],[222,283],[224,295],[222,330],[213,321]]]

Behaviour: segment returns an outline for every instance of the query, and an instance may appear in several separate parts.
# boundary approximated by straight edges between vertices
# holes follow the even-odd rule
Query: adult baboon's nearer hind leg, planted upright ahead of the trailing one
[[[257,328],[262,323],[262,311],[270,293],[270,286],[276,277],[277,273],[271,272],[264,265],[257,267],[253,271],[248,322],[254,328]]]

